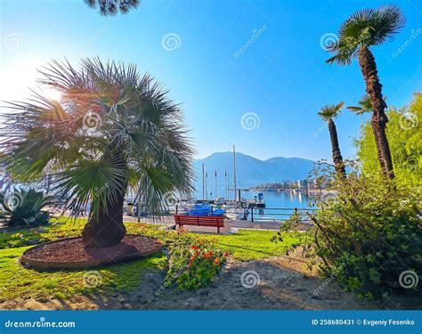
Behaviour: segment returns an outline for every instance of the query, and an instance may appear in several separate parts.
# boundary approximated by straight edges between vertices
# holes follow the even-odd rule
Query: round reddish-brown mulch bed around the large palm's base
[[[149,257],[161,248],[157,240],[134,234],[126,234],[120,243],[107,248],[85,248],[82,238],[69,238],[29,248],[22,254],[20,262],[42,270],[89,268]]]

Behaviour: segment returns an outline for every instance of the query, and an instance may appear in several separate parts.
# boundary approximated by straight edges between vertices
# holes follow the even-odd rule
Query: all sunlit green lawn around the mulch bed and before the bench
[[[166,257],[158,254],[141,260],[125,264],[109,265],[93,268],[93,281],[100,281],[98,287],[88,286],[84,275],[92,270],[61,271],[40,273],[26,269],[19,263],[19,257],[27,249],[27,241],[37,238],[40,242],[58,240],[65,237],[78,236],[85,224],[84,218],[56,220],[55,224],[45,226],[43,230],[28,229],[16,232],[0,233],[0,302],[15,298],[35,298],[39,301],[51,297],[66,299],[76,294],[93,291],[107,292],[112,290],[130,291],[142,282],[144,273],[164,270],[167,265]],[[166,232],[153,224],[126,223],[129,233],[150,235],[166,238]],[[292,245],[299,242],[299,238],[292,235],[284,237],[282,243],[271,242],[274,232],[239,230],[230,235],[206,235],[207,239],[215,241],[215,246],[228,251],[237,260],[253,260],[264,257],[280,256]],[[204,236],[201,234],[201,236]]]

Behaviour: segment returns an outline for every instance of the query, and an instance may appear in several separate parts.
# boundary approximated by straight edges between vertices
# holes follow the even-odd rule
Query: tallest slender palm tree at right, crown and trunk
[[[372,103],[372,119],[379,157],[384,159],[384,173],[394,178],[393,160],[385,135],[388,118],[383,100],[382,85],[377,74],[377,63],[370,48],[392,39],[405,25],[405,18],[395,5],[384,5],[377,9],[362,9],[353,13],[338,31],[338,41],[329,45],[328,51],[335,55],[327,61],[339,65],[349,65],[358,58],[366,92]]]

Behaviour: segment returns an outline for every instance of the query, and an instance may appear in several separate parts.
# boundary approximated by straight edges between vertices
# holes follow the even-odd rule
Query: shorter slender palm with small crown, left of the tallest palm
[[[318,115],[321,116],[327,122],[329,126],[329,136],[331,138],[332,154],[334,167],[336,168],[337,175],[341,178],[345,177],[345,164],[343,163],[343,157],[341,156],[340,146],[338,145],[338,136],[337,128],[334,124],[333,118],[337,118],[340,110],[345,105],[344,102],[339,102],[337,104],[326,105],[321,108],[321,111]]]

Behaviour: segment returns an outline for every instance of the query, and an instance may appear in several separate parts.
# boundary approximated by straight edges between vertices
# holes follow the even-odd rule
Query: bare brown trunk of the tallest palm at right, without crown
[[[361,47],[359,52],[359,65],[365,80],[366,93],[372,104],[371,125],[376,137],[378,159],[386,177],[394,178],[393,159],[391,158],[390,146],[385,134],[385,126],[388,118],[385,115],[386,104],[383,99],[382,85],[379,82],[377,63],[374,55],[366,46]]]

